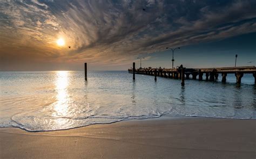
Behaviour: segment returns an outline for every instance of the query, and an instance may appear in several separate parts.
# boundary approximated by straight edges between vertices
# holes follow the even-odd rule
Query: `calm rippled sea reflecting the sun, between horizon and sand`
[[[161,115],[256,119],[256,86],[136,75],[127,71],[2,71],[0,127],[69,129]],[[221,78],[219,77],[219,81]]]

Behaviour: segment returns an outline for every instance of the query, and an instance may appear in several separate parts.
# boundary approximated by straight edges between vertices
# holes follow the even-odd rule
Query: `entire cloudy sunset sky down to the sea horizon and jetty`
[[[0,0],[0,70],[256,66],[256,1]],[[65,44],[59,46],[58,39]],[[70,46],[70,48],[69,48]]]

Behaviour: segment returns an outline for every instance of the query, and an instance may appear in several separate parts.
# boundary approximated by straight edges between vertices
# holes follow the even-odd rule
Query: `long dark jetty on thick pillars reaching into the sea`
[[[221,82],[226,82],[227,74],[234,74],[237,78],[237,83],[241,83],[241,78],[244,74],[252,74],[254,77],[254,82],[256,84],[256,67],[255,66],[245,66],[245,67],[221,67],[221,68],[176,68],[176,69],[165,69],[165,68],[140,68],[135,69],[133,63],[133,69],[128,69],[129,73],[133,74],[143,74],[154,76],[157,80],[157,76],[173,79],[182,79],[181,85],[184,85],[184,79],[198,79],[203,81],[203,75],[205,74],[205,81],[216,81],[219,74],[222,76]],[[186,76],[185,76],[186,75]],[[198,76],[198,78],[197,78]]]

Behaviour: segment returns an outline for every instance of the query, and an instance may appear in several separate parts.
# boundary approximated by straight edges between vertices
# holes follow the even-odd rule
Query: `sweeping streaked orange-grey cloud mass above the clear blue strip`
[[[129,63],[138,54],[169,46],[255,32],[255,5],[210,0],[2,0],[1,60]],[[72,49],[59,49],[58,37]]]

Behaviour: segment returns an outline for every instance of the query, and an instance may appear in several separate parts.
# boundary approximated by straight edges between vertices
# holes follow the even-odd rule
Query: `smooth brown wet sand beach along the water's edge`
[[[65,131],[0,128],[0,158],[253,158],[256,120],[160,118]]]

